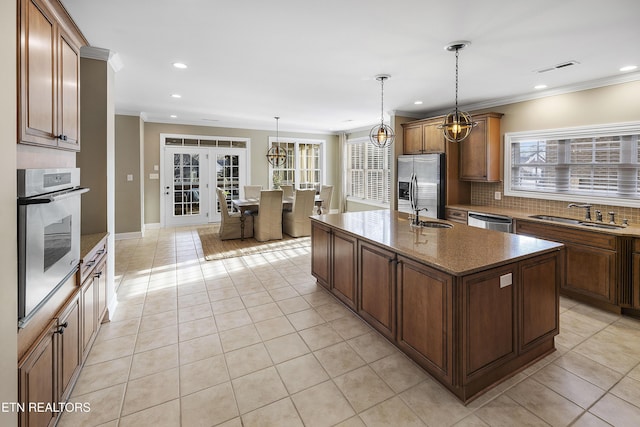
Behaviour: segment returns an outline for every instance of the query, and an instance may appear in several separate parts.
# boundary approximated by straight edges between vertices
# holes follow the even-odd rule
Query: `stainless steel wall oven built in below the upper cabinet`
[[[18,169],[18,325],[78,269],[80,169]]]

